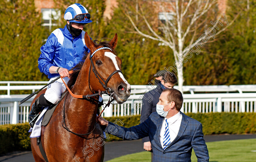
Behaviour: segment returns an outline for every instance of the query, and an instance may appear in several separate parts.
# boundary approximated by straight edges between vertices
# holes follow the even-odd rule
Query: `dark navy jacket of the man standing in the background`
[[[158,86],[145,93],[142,98],[142,107],[140,112],[140,123],[143,123],[145,120],[148,119],[151,113],[156,112],[156,104],[159,101],[159,97],[163,91],[160,87],[161,82],[158,82]],[[148,142],[149,137],[142,138],[142,142]]]

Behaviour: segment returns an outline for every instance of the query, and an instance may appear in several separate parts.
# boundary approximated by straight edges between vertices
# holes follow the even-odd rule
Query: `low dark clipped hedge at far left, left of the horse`
[[[0,125],[0,155],[12,151],[31,150],[28,123]]]

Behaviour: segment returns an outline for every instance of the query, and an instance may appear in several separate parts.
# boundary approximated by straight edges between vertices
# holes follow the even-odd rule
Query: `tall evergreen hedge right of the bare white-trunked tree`
[[[231,0],[227,6],[227,19],[236,21],[186,63],[187,85],[256,84],[256,1]]]

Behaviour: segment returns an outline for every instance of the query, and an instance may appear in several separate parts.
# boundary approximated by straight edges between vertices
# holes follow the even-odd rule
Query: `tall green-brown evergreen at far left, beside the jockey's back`
[[[47,31],[34,1],[0,2],[0,70],[2,81],[45,80],[37,64]]]

